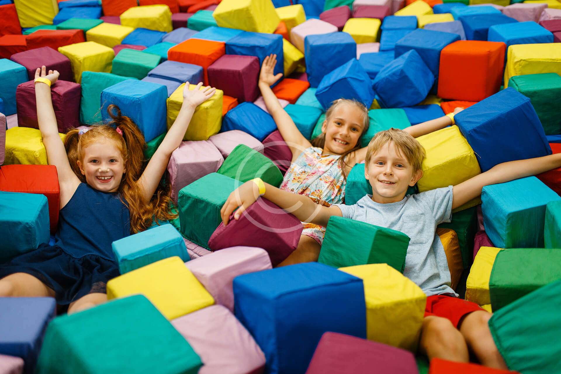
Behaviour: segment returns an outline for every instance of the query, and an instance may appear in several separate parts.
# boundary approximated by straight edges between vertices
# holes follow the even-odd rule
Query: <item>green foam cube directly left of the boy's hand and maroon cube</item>
[[[210,236],[222,222],[220,209],[240,185],[240,181],[213,172],[183,187],[177,198],[181,235],[208,249]]]

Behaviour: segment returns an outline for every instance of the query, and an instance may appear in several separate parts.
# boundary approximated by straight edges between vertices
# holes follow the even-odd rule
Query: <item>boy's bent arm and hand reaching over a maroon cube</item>
[[[277,204],[284,211],[294,214],[302,222],[315,223],[325,227],[329,217],[341,216],[341,209],[335,206],[324,207],[318,205],[305,195],[283,191],[267,183],[265,183],[263,197]],[[259,187],[254,181],[247,181],[234,190],[220,209],[220,216],[224,225],[228,225],[229,217],[236,208],[240,207],[234,214],[234,219],[237,220],[243,211],[257,201],[257,198],[259,198]]]

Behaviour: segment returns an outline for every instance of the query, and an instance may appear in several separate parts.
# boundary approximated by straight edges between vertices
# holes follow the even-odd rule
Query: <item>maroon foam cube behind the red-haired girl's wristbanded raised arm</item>
[[[50,86],[54,115],[59,133],[80,126],[80,99],[82,88],[78,83],[57,81]],[[35,102],[35,83],[21,83],[16,89],[17,125],[39,128]]]

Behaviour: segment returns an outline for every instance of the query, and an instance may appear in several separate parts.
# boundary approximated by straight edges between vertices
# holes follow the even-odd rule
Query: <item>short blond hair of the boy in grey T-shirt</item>
[[[365,165],[368,167],[370,158],[375,155],[384,144],[393,142],[399,152],[403,153],[407,162],[413,167],[413,174],[422,170],[422,161],[426,157],[425,148],[411,134],[400,129],[391,128],[389,130],[380,131],[372,138],[366,149]]]

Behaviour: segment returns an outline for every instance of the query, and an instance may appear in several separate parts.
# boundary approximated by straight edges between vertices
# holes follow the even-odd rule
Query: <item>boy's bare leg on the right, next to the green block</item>
[[[471,312],[464,317],[459,331],[466,339],[468,347],[484,366],[508,370],[499,350],[496,349],[493,335],[489,330],[489,319],[492,314],[486,311]]]

